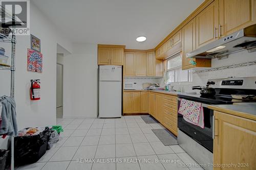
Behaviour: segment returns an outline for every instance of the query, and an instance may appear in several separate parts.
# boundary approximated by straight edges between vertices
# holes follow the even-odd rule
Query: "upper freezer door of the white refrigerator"
[[[122,81],[122,66],[100,65],[99,81]]]

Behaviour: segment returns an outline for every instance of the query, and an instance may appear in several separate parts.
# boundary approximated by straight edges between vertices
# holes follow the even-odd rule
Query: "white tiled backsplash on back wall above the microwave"
[[[159,77],[125,77],[124,82],[137,83],[137,90],[143,89],[143,83],[157,83],[159,84],[162,78]]]

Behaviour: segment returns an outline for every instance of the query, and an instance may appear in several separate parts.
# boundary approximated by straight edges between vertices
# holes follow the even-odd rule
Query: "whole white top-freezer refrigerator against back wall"
[[[99,117],[122,115],[122,66],[99,66]]]

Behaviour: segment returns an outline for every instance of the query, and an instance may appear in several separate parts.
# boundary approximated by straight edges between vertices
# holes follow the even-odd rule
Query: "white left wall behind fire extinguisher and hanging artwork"
[[[54,24],[33,3],[30,4],[30,33],[41,40],[43,68],[41,74],[27,71],[27,48],[30,48],[30,36],[17,36],[15,100],[18,129],[56,124],[57,43],[72,51],[71,43],[59,35]],[[6,50],[10,48],[6,47]],[[41,80],[40,101],[30,101],[30,79]],[[1,73],[0,80],[1,84],[6,80],[3,83],[5,85],[1,85],[0,95],[10,95],[10,75]]]

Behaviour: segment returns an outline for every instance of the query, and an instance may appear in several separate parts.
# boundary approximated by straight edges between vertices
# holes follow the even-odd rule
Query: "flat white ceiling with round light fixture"
[[[204,0],[32,0],[72,42],[154,48]],[[137,42],[138,36],[146,36]]]

